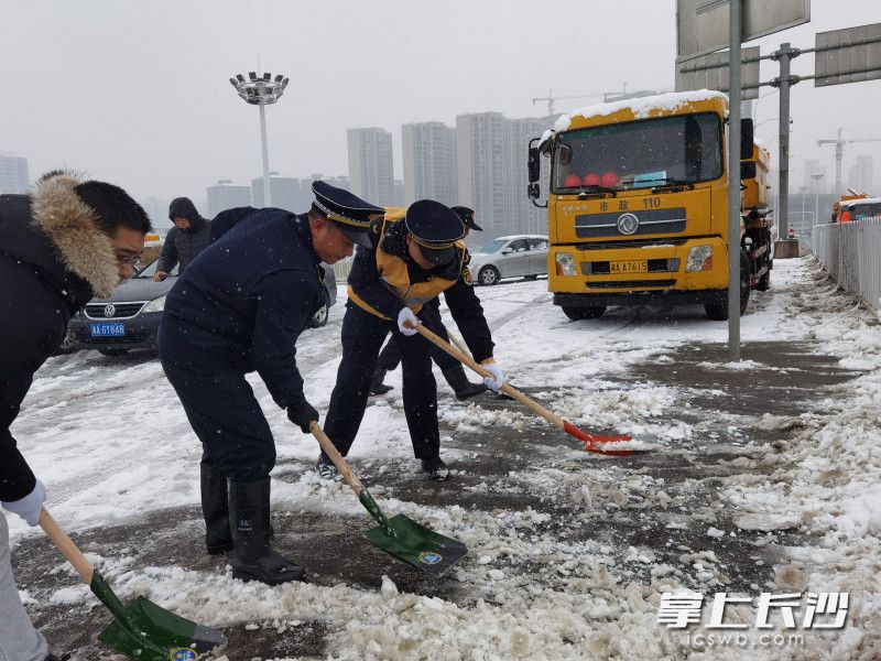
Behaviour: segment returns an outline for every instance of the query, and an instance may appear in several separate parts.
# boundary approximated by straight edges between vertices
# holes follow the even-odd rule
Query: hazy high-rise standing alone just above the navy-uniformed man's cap
[[[384,129],[349,129],[351,192],[373,204],[394,204],[392,134]]]

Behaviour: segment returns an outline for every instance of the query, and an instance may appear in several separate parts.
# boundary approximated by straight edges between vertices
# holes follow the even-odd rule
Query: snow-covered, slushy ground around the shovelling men
[[[720,345],[727,324],[700,307],[612,308],[573,323],[545,289],[478,290],[510,381],[574,424],[631,434],[650,452],[585,453],[515,402],[457,402],[436,372],[455,474],[426,483],[400,373],[390,375],[395,388],[369,407],[350,458],[387,513],[468,545],[444,581],[360,538],[366,512],[342,483],[311,470],[315,441],[255,378],[279,452],[276,545],[305,565],[306,584],[243,584],[204,556],[200,448],[154,357],[53,358],[13,433],[48,488],[47,508],[117,592],[224,628],[230,660],[881,658],[874,315],[809,259],[779,260],[771,291],[753,292],[746,360],[735,365]],[[298,346],[306,395],[322,412],[342,312]],[[98,658],[97,600],[39,532],[15,519],[10,528],[35,621],[59,649]],[[800,644],[707,647],[659,625],[662,593],[678,589],[849,592],[849,624],[800,630]],[[744,606],[728,611],[754,619]]]

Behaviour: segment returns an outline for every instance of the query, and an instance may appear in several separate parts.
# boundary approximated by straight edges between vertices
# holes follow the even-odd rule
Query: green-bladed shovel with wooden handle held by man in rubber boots
[[[346,484],[358,496],[358,500],[379,523],[365,533],[368,542],[399,560],[427,572],[435,578],[446,574],[454,564],[468,554],[468,549],[458,540],[438,534],[404,514],[395,514],[391,519],[387,519],[377,501],[363,487],[358,476],[352,473],[346,459],[339,454],[324,430],[318,426],[318,423],[309,424],[309,430],[318,440],[324,453],[334,462],[334,466],[339,470]]]

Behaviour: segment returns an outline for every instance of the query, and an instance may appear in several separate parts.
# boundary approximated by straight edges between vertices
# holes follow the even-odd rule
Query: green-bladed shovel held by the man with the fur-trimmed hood
[[[174,615],[143,596],[123,606],[104,576],[45,509],[40,512],[40,525],[95,596],[113,614],[113,621],[98,636],[105,644],[137,661],[191,661],[226,644],[226,637],[217,629]]]

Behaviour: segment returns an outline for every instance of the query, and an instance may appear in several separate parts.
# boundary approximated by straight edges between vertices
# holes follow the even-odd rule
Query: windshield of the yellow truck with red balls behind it
[[[564,194],[651,188],[717,180],[721,163],[718,115],[662,117],[562,133],[552,181]]]

